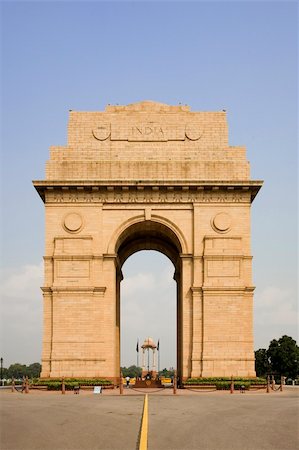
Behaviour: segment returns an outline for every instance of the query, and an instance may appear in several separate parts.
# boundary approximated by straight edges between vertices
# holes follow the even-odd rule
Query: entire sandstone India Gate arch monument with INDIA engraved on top
[[[41,376],[118,379],[122,266],[157,250],[175,268],[179,377],[254,377],[250,207],[261,185],[245,147],[229,146],[224,111],[70,111],[67,145],[51,147],[34,181],[46,217]]]

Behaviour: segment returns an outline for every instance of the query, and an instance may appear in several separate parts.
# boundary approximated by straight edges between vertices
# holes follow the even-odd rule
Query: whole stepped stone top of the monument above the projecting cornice
[[[141,101],[70,111],[67,146],[51,147],[47,180],[250,179],[244,147],[228,142],[225,111]]]

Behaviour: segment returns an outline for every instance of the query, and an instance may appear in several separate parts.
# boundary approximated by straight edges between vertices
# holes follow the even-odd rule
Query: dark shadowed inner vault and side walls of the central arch
[[[120,339],[121,339],[121,305],[120,305],[120,283],[123,280],[122,268],[126,260],[134,253],[144,250],[155,250],[164,254],[173,264],[173,279],[176,282],[176,368],[180,376],[182,370],[181,362],[181,258],[182,246],[177,235],[169,227],[159,222],[146,220],[135,223],[126,228],[119,236],[116,245],[117,254],[117,276],[116,276],[116,341],[118,343],[118,365],[120,366]],[[163,301],[160,297],[160,301]],[[159,303],[154,302],[154,308],[159,314]],[[147,332],[144,330],[144,332]],[[148,330],[150,332],[150,330]],[[145,338],[146,336],[143,336]]]

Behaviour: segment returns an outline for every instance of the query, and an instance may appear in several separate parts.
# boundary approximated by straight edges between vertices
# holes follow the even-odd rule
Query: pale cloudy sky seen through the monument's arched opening
[[[141,345],[152,337],[157,371],[176,367],[176,281],[174,266],[162,253],[141,250],[122,267],[120,283],[120,362],[121,367],[142,367]],[[139,345],[137,353],[137,339]],[[148,356],[148,354],[147,354]],[[152,354],[150,361],[152,362]],[[146,358],[146,366],[148,358]]]

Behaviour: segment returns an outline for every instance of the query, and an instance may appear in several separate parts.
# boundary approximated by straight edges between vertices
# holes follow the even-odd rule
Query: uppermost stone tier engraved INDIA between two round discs
[[[144,101],[107,105],[105,111],[70,111],[68,145],[105,148],[122,141],[145,142],[148,147],[151,142],[176,141],[220,149],[228,146],[227,128],[225,111],[191,112],[187,105]]]

